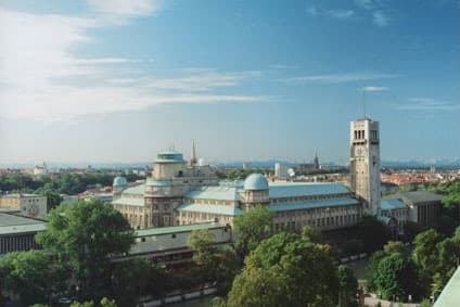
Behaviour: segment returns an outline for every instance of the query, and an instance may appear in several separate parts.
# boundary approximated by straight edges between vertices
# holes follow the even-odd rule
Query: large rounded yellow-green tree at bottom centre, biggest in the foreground
[[[245,264],[228,306],[332,306],[336,302],[337,276],[328,245],[295,233],[277,233],[264,240]]]

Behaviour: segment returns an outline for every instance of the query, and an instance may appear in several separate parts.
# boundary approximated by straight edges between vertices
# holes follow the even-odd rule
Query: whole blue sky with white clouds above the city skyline
[[[0,0],[0,164],[460,156],[458,0]]]

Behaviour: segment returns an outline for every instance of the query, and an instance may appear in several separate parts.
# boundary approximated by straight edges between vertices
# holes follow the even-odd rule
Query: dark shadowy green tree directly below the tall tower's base
[[[362,216],[358,225],[358,233],[365,245],[365,252],[372,253],[379,251],[392,239],[389,228],[383,225],[374,216]]]

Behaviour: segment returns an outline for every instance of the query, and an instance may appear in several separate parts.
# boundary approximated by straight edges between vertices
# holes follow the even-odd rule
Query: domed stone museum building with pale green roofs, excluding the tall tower
[[[207,221],[232,225],[233,218],[257,204],[277,213],[274,227],[320,229],[358,222],[361,204],[342,183],[270,182],[260,174],[244,181],[219,182],[209,166],[189,165],[182,154],[162,152],[152,176],[128,187],[114,180],[114,207],[132,228],[190,225]]]

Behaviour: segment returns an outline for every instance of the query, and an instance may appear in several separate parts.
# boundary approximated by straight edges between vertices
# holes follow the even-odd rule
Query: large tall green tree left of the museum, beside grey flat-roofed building
[[[110,259],[129,251],[133,231],[111,204],[92,200],[52,210],[37,241],[59,263],[68,263],[80,296],[101,298],[110,289]]]

